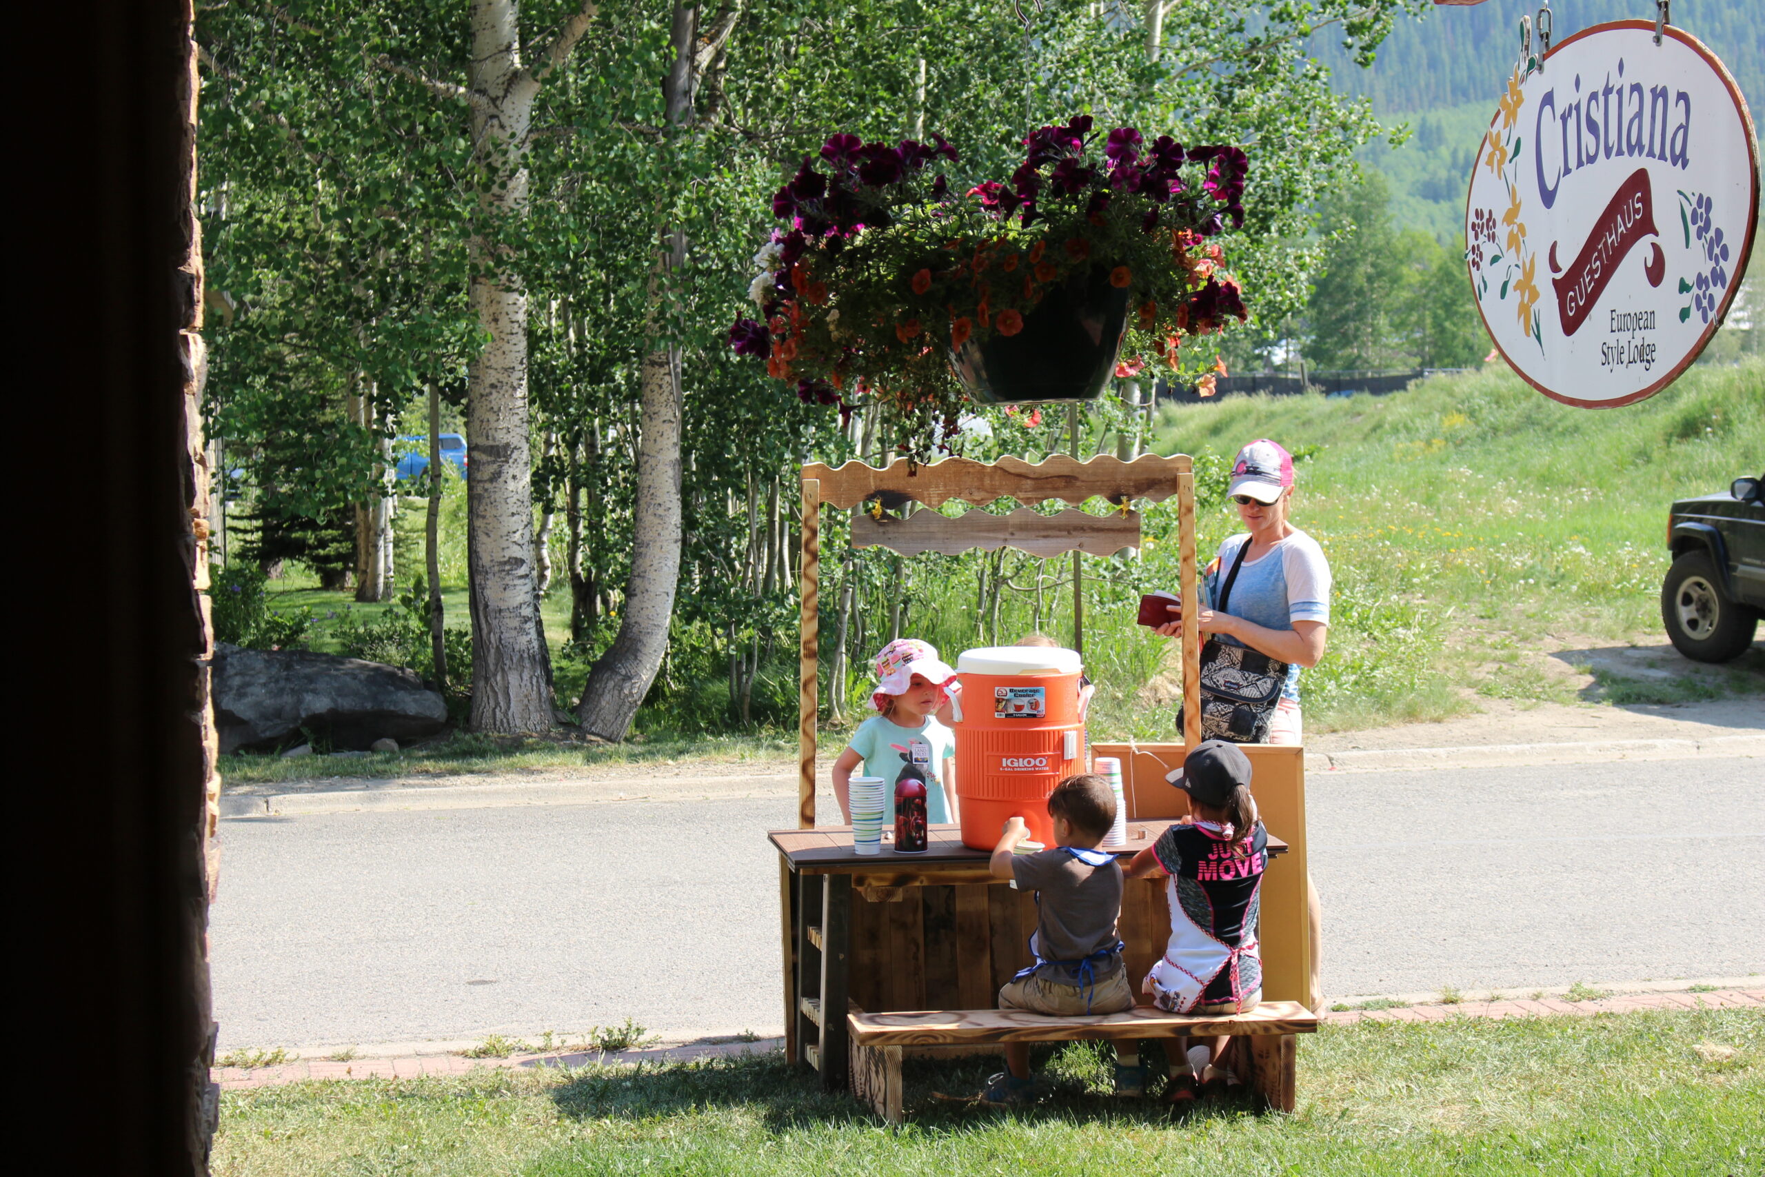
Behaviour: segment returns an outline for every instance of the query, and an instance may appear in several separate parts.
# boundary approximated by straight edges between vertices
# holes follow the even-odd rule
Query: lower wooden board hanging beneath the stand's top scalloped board
[[[955,556],[976,547],[988,552],[1015,547],[1047,559],[1063,552],[1114,556],[1124,547],[1138,545],[1138,512],[1087,515],[1082,510],[1066,508],[1057,515],[1038,515],[1027,506],[1020,506],[1004,515],[988,515],[980,510],[939,515],[921,510],[907,519],[891,515],[877,519],[865,510],[852,512],[852,547],[886,547],[902,556],[918,556],[920,552]]]

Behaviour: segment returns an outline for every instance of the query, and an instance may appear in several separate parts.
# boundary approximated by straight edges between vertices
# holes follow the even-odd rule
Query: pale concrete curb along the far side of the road
[[[1707,739],[1594,739],[1581,743],[1486,745],[1467,748],[1354,748],[1308,752],[1308,773],[1394,773],[1453,768],[1518,768],[1527,764],[1603,764],[1611,761],[1677,761],[1687,757],[1765,757],[1765,734]],[[482,810],[512,805],[604,805],[614,801],[699,801],[794,798],[796,776],[586,778],[510,782],[496,785],[395,785],[272,794],[222,794],[221,817],[298,817],[387,810]],[[831,805],[826,780],[817,796]]]

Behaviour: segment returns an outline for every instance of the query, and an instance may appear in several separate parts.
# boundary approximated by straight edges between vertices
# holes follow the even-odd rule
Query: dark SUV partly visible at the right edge
[[[1673,503],[1666,545],[1661,621],[1673,646],[1698,662],[1744,655],[1765,616],[1765,475]]]

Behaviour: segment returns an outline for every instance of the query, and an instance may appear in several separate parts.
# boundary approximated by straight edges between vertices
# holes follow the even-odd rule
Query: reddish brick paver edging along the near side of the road
[[[1710,993],[1634,993],[1599,1001],[1465,1001],[1453,1006],[1401,1006],[1396,1009],[1345,1009],[1326,1013],[1324,1022],[1345,1025],[1354,1022],[1447,1022],[1451,1018],[1537,1018],[1550,1015],[1592,1016],[1597,1013],[1634,1013],[1638,1009],[1765,1009],[1765,988],[1728,988]],[[300,1059],[281,1066],[242,1068],[217,1066],[214,1080],[224,1091],[274,1087],[325,1078],[417,1078],[420,1075],[464,1075],[480,1068],[531,1069],[581,1068],[590,1064],[685,1062],[692,1059],[727,1059],[745,1053],[770,1053],[784,1046],[782,1038],[761,1038],[752,1043],[702,1043],[667,1046],[660,1050],[552,1052],[510,1055],[507,1059],[462,1059],[459,1055],[406,1055],[401,1059],[349,1059],[328,1062]]]

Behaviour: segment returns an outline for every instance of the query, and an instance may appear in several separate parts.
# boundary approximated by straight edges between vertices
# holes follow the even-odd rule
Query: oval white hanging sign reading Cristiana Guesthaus
[[[1502,356],[1548,397],[1641,401],[1721,326],[1753,249],[1758,141],[1696,39],[1596,25],[1507,83],[1477,150],[1465,263]]]

